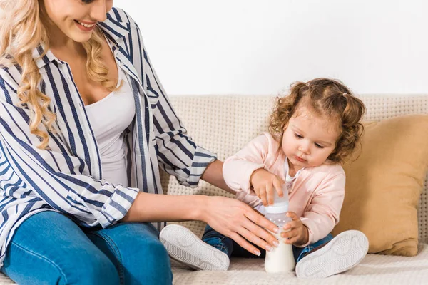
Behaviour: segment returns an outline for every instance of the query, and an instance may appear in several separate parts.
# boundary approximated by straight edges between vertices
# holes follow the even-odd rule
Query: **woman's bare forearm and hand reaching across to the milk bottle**
[[[198,220],[235,240],[249,252],[260,254],[253,244],[264,249],[277,240],[265,229],[277,227],[253,208],[228,197],[203,195],[157,195],[139,192],[123,222],[158,222]],[[265,229],[263,229],[265,228]],[[248,242],[249,241],[249,242]]]

